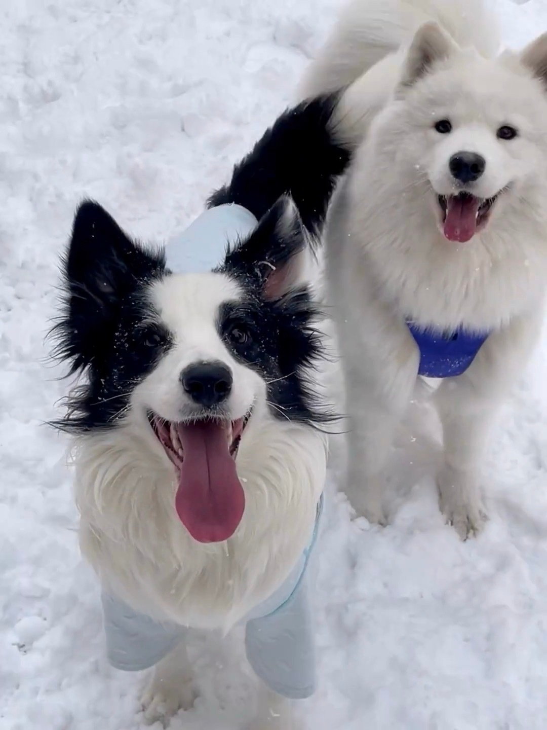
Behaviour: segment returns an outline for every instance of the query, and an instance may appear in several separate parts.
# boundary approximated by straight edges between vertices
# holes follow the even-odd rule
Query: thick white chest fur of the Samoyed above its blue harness
[[[341,228],[329,243],[346,262],[348,284],[433,328],[496,329],[542,306],[547,245],[541,220],[516,219],[507,207],[491,230],[457,245],[443,239],[423,191],[387,202],[367,196],[358,178],[349,184],[334,203],[335,228]],[[346,196],[349,215],[342,212]]]

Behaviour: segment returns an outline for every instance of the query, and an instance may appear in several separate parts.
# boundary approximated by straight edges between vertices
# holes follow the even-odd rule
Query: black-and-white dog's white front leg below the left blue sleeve
[[[154,667],[141,697],[144,720],[166,723],[178,710],[190,710],[194,700],[193,672],[183,640]]]

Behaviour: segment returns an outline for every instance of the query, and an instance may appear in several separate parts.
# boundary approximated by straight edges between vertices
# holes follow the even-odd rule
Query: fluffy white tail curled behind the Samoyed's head
[[[497,51],[497,26],[483,0],[350,0],[304,77],[298,98],[349,86],[410,42],[428,20],[438,23],[462,47],[475,47],[486,56]]]

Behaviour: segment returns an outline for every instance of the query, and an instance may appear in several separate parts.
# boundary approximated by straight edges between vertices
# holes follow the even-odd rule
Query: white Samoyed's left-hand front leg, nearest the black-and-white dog
[[[416,384],[419,353],[404,323],[380,329],[381,335],[371,337],[367,328],[359,339],[346,331],[341,344],[352,339],[341,354],[349,415],[346,493],[358,515],[385,524],[385,470],[395,427]],[[379,343],[375,350],[371,342]]]

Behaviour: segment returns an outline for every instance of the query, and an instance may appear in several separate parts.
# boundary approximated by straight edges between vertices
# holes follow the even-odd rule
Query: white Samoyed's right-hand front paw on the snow
[[[486,512],[473,478],[448,467],[438,477],[439,506],[446,522],[462,540],[476,537],[486,522]]]

